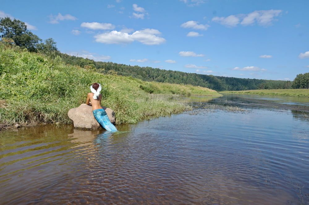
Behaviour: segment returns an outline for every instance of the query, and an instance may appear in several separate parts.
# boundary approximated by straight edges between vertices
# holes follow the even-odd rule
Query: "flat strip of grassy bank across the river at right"
[[[277,95],[277,96],[292,96],[292,97],[307,97],[307,98],[309,97],[309,89],[242,90],[242,91],[222,91],[220,93]]]

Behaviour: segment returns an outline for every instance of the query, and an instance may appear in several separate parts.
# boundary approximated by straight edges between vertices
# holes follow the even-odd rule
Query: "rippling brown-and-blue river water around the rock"
[[[114,134],[71,125],[1,131],[0,203],[309,204],[309,99],[186,100],[193,111]]]

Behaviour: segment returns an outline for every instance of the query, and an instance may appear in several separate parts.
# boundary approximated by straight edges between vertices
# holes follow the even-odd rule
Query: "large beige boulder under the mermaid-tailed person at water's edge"
[[[106,111],[109,120],[111,123],[115,123],[115,112],[108,108],[103,107]],[[74,128],[83,128],[83,129],[99,129],[100,124],[96,121],[92,113],[92,107],[86,104],[81,104],[77,108],[72,108],[68,112],[69,118],[74,123]]]

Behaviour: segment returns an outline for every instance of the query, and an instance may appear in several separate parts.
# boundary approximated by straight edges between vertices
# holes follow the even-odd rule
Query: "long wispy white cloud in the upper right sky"
[[[275,17],[281,14],[282,10],[256,10],[249,14],[230,15],[227,17],[214,17],[212,21],[225,25],[227,27],[235,27],[239,23],[243,26],[253,25],[257,23],[260,26],[268,26],[277,19]]]

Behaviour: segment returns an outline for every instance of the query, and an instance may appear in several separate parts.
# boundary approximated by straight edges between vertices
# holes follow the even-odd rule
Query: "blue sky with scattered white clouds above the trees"
[[[309,72],[308,8],[305,0],[2,0],[0,17],[96,61],[293,80]]]

